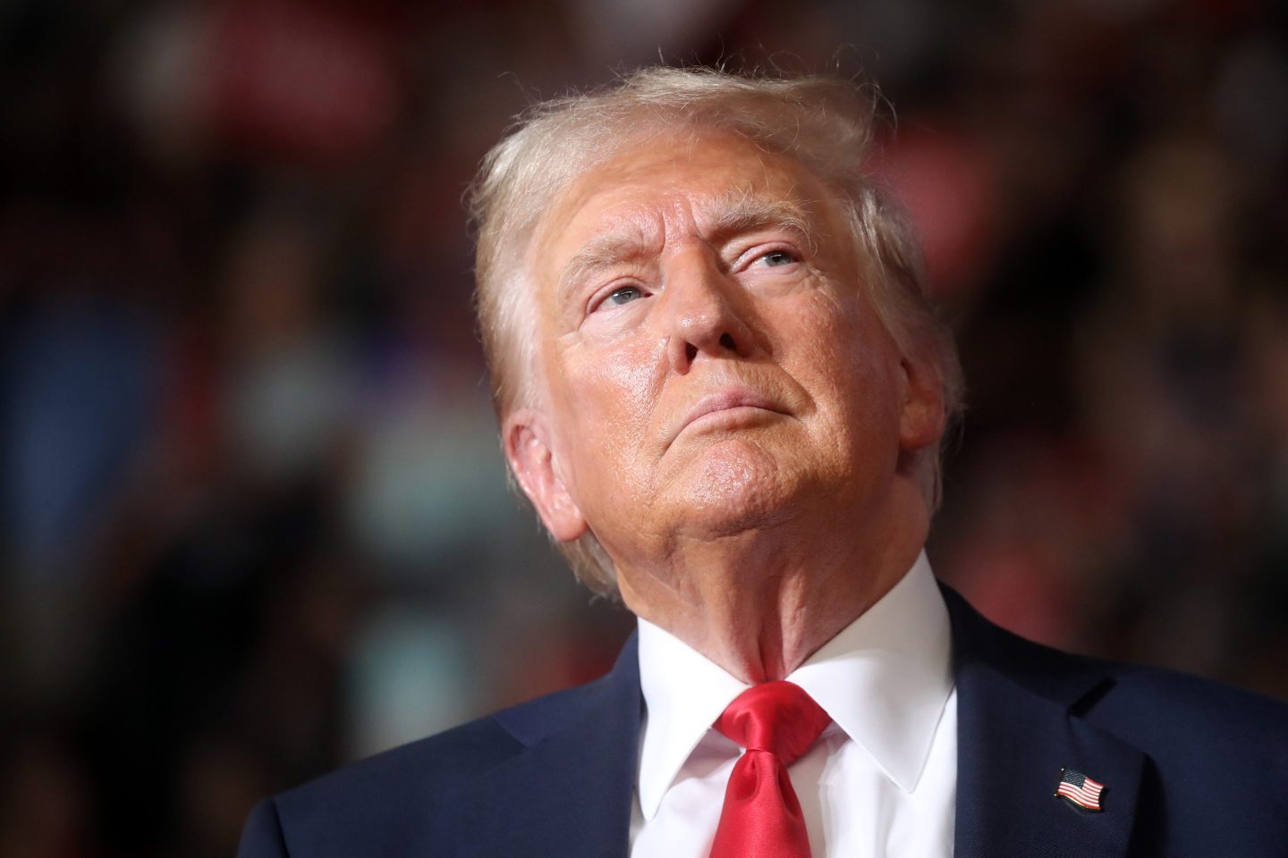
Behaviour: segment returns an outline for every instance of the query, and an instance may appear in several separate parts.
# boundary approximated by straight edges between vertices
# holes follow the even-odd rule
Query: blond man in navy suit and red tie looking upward
[[[505,454],[639,633],[596,683],[269,799],[243,858],[1288,854],[1284,706],[934,584],[961,383],[869,100],[649,69],[488,156]]]

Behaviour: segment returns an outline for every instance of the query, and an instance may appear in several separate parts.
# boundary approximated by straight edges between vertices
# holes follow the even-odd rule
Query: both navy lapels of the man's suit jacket
[[[1148,759],[1083,719],[1112,684],[1103,666],[1003,632],[947,588],[944,601],[957,683],[954,855],[1124,855]],[[625,858],[641,706],[632,635],[596,683],[498,714],[522,749],[461,795],[459,854]],[[1061,767],[1105,785],[1103,812],[1055,798]]]

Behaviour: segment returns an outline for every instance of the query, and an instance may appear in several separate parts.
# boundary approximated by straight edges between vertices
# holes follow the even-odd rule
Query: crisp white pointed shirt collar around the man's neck
[[[644,619],[639,659],[647,722],[638,786],[640,810],[652,819],[693,749],[748,686]],[[787,679],[809,692],[899,789],[912,791],[953,687],[948,610],[925,552]]]

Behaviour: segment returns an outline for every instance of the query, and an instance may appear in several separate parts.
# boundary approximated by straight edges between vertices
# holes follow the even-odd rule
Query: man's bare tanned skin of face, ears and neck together
[[[574,183],[529,256],[540,404],[506,452],[560,540],[592,530],[632,611],[779,678],[925,542],[943,432],[827,188],[728,134],[652,138]]]

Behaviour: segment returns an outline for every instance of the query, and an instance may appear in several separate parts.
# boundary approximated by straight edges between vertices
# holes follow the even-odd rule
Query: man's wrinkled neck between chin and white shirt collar
[[[899,522],[681,538],[662,563],[618,563],[618,583],[631,611],[742,682],[782,679],[912,567],[927,516]]]

